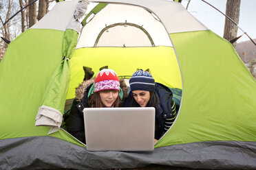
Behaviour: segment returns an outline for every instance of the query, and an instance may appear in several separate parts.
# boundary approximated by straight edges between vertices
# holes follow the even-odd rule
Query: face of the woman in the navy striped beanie
[[[150,99],[149,91],[134,90],[132,92],[132,94],[134,95],[134,99],[140,105],[140,107],[146,107],[147,106],[147,103],[149,102],[149,99]]]

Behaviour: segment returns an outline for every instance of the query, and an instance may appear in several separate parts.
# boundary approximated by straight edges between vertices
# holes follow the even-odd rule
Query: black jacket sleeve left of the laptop
[[[75,101],[70,110],[70,114],[65,119],[65,125],[67,132],[72,134],[79,141],[85,143],[85,126],[83,114],[78,110],[78,105],[81,104],[79,101]]]

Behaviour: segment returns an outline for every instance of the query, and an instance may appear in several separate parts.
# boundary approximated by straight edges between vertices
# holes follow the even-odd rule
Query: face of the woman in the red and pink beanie
[[[118,90],[100,91],[100,101],[107,108],[111,108],[118,97]]]

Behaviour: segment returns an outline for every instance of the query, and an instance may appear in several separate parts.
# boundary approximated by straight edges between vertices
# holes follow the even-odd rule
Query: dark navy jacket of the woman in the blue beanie
[[[159,139],[172,125],[176,117],[175,103],[173,101],[173,93],[163,84],[156,83],[156,125],[155,125],[155,138]],[[134,97],[130,92],[123,107],[131,107]]]

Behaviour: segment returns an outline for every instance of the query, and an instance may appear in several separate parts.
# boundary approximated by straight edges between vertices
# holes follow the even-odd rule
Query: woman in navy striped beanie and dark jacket
[[[176,117],[173,93],[167,86],[155,83],[147,71],[136,71],[129,84],[131,91],[123,106],[156,108],[155,139],[158,140],[169,130]]]

